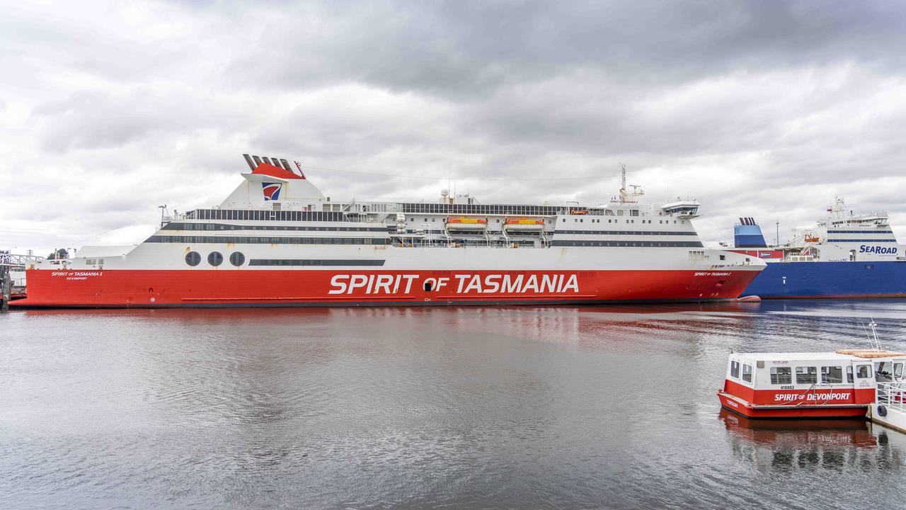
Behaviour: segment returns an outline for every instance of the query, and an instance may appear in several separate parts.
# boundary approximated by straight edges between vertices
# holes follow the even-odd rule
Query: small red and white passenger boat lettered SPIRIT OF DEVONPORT
[[[734,353],[718,399],[750,418],[864,417],[878,385],[906,381],[904,365],[881,348]]]

